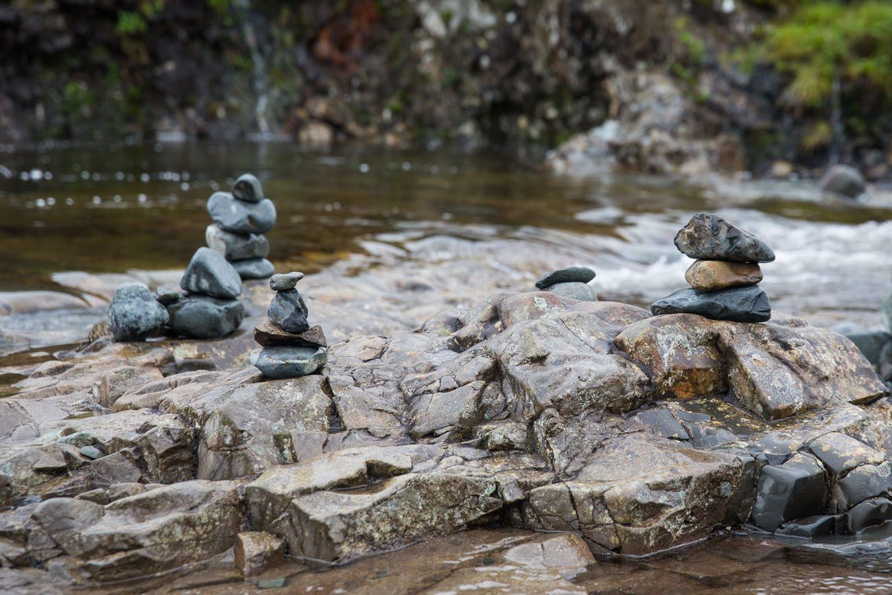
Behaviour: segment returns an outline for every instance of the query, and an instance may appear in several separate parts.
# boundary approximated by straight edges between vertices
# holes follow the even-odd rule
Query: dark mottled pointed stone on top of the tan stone
[[[692,259],[771,262],[774,252],[762,240],[711,213],[698,213],[675,235],[675,247]]]

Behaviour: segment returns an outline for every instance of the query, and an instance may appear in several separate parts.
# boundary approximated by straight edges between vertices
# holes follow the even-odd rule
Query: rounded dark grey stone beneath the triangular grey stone
[[[179,335],[214,339],[230,335],[242,324],[244,304],[207,295],[188,295],[168,306],[170,327]]]

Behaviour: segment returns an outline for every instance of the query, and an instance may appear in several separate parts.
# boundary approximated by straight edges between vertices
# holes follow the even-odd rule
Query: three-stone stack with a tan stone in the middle
[[[655,314],[699,314],[714,320],[764,322],[772,318],[759,262],[774,260],[762,240],[718,215],[699,213],[675,236],[675,247],[697,259],[684,274],[691,289],[657,300]]]

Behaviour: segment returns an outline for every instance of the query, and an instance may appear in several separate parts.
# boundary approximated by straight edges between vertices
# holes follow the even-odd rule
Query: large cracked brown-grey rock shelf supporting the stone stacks
[[[256,543],[343,562],[476,525],[646,555],[726,525],[863,542],[892,518],[885,386],[845,337],[777,313],[499,293],[270,381],[188,369],[182,343],[103,341],[0,401],[0,562],[47,581],[236,543],[243,570]]]

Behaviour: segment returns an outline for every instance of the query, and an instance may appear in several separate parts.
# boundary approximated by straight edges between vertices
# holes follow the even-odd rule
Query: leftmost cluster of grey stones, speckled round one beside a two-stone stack
[[[115,341],[142,341],[161,335],[214,339],[229,335],[242,324],[242,278],[218,252],[199,248],[179,282],[186,293],[161,289],[152,293],[142,283],[118,288],[109,308]]]

